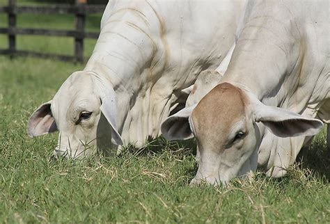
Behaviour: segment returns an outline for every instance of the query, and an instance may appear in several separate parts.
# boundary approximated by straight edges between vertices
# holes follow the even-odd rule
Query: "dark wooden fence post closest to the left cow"
[[[76,0],[76,31],[78,35],[74,38],[74,58],[76,61],[84,61],[84,28],[85,28],[85,10],[86,0]]]

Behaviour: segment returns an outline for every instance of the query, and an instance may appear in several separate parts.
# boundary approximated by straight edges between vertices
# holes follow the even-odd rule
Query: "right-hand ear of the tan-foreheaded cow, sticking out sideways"
[[[294,136],[314,136],[323,127],[323,122],[305,118],[298,113],[274,106],[260,104],[255,114],[256,122],[262,122],[276,136],[286,138]]]

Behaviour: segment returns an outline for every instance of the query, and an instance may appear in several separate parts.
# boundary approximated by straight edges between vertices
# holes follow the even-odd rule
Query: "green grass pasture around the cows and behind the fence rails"
[[[47,27],[73,24],[70,18],[47,17]],[[0,26],[5,20],[0,15]],[[22,26],[40,23],[29,15],[19,21]],[[18,42],[20,49],[72,52],[70,39],[22,36]],[[86,42],[86,55],[94,44]],[[6,47],[4,36],[0,47]],[[226,189],[189,187],[196,172],[193,141],[159,138],[120,157],[50,159],[57,134],[31,139],[26,122],[83,67],[0,56],[0,223],[330,223],[325,132],[315,138],[303,165],[292,166],[286,177],[257,173],[251,181],[235,179]]]

